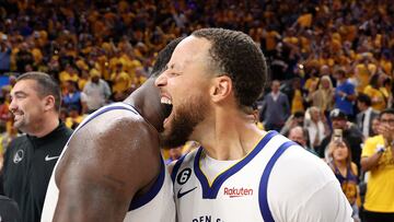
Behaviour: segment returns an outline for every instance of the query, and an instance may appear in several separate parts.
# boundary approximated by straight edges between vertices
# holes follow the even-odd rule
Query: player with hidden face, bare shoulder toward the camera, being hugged
[[[159,54],[153,75],[178,42]],[[159,149],[164,118],[154,78],[123,103],[86,117],[55,167],[42,221],[175,221],[172,184]]]

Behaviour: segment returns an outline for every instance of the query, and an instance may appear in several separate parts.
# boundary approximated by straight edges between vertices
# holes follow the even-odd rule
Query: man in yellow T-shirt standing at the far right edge
[[[366,222],[394,222],[394,109],[383,110],[379,135],[369,138],[361,167],[370,172],[366,195]]]

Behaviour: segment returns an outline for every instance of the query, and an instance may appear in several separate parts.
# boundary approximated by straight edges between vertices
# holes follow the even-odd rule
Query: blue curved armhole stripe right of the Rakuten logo
[[[273,171],[273,167],[277,160],[280,157],[280,155],[291,145],[297,144],[293,141],[287,141],[283,144],[281,144],[278,150],[274,153],[271,159],[268,161],[266,167],[264,168],[263,176],[259,183],[259,194],[258,194],[258,202],[259,202],[259,209],[264,219],[264,222],[274,222],[273,214],[269,210],[268,206],[268,199],[267,199],[267,188],[268,188],[268,179],[269,175]]]

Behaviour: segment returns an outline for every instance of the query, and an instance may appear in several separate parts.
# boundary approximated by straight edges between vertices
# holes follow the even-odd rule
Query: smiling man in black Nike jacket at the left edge
[[[39,221],[53,168],[72,131],[59,120],[60,87],[48,74],[27,72],[11,91],[14,127],[25,132],[4,155],[3,191],[22,221]]]

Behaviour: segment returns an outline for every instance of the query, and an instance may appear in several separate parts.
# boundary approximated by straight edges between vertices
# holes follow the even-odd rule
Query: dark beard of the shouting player
[[[190,98],[174,113],[170,127],[160,135],[161,147],[177,148],[185,144],[195,127],[206,116],[207,103],[202,98]]]

